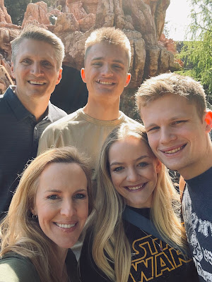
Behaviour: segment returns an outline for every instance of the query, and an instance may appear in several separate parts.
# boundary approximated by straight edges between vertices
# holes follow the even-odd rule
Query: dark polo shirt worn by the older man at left
[[[49,102],[47,116],[37,123],[8,87],[0,95],[0,214],[8,210],[20,173],[28,160],[36,157],[40,135],[47,125],[66,116]]]

